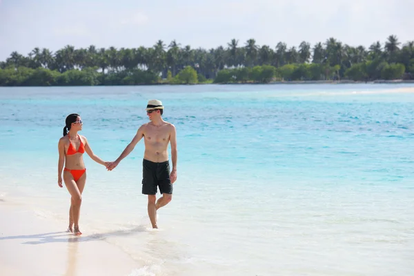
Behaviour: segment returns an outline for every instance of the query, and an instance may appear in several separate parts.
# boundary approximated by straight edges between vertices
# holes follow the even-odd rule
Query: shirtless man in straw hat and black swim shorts
[[[142,161],[142,193],[148,195],[148,216],[152,228],[157,226],[157,210],[166,206],[172,199],[172,184],[177,179],[177,135],[175,126],[164,121],[161,115],[164,106],[161,101],[153,99],[148,101],[146,112],[150,122],[143,124],[130,144],[117,160],[108,166],[113,170],[119,162],[127,157],[137,143],[144,137],[145,151]],[[172,170],[168,159],[168,143],[171,145]],[[162,197],[155,201],[157,186]]]

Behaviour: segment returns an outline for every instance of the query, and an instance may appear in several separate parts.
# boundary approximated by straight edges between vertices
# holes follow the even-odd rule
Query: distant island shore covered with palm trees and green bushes
[[[241,43],[240,43],[241,44]],[[145,48],[66,46],[56,52],[34,48],[12,52],[0,62],[0,86],[119,86],[140,84],[270,83],[414,80],[414,41],[390,35],[368,49],[329,38],[288,48],[244,45],[232,39],[209,50],[168,46]]]

